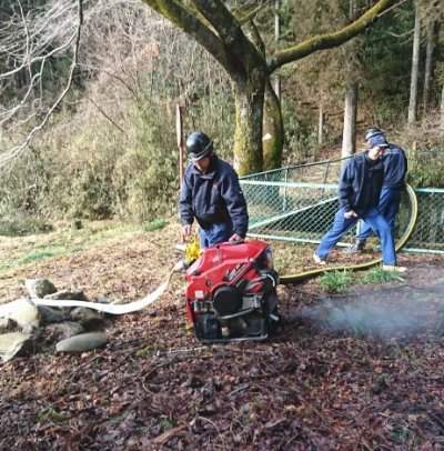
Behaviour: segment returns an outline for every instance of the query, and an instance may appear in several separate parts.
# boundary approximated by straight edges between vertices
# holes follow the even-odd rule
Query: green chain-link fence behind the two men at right
[[[346,159],[282,168],[241,179],[250,214],[249,237],[319,243],[340,208],[337,179]],[[444,189],[416,189],[418,217],[404,250],[444,252]],[[396,218],[395,240],[412,214],[406,193]],[[337,245],[349,245],[361,221]],[[373,239],[377,244],[377,239]]]

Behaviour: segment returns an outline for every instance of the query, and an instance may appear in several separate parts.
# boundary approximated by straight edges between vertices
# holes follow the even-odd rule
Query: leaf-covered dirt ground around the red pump
[[[8,269],[0,299],[37,277],[80,285],[92,300],[140,299],[178,260],[176,232],[131,233]],[[316,280],[280,285],[284,322],[271,339],[218,345],[186,327],[178,275],[152,309],[107,320],[107,348],[0,364],[0,448],[442,449],[443,263],[401,253],[405,280],[334,295]]]

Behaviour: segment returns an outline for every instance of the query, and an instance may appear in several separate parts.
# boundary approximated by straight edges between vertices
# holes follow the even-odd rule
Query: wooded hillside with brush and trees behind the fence
[[[261,136],[261,149],[243,133],[258,164],[353,153],[363,149],[365,129],[380,127],[408,152],[412,184],[444,184],[442,0],[252,3],[221,2],[220,11],[231,11],[224,20],[240,27],[238,38],[268,59],[263,137],[272,139]],[[182,13],[228,42],[200,8]],[[360,27],[374,8],[371,27],[343,43],[326,40]],[[43,228],[41,219],[143,222],[171,214],[178,107],[184,137],[202,130],[221,157],[240,161],[232,67],[171,20],[138,0],[2,2],[0,218]],[[285,51],[305,43],[320,50],[274,69]],[[233,58],[242,58],[233,47]],[[269,91],[280,98],[279,110]],[[271,104],[282,129],[266,124]]]

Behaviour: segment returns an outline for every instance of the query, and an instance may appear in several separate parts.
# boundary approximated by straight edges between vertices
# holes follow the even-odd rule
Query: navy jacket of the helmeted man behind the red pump
[[[249,214],[239,178],[226,161],[211,157],[206,173],[193,163],[185,170],[179,200],[182,225],[192,224],[195,218],[205,230],[213,223],[228,223],[233,233],[244,238]]]

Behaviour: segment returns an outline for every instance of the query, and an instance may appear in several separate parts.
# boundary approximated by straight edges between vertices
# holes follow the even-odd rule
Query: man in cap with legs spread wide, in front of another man
[[[405,268],[396,265],[392,229],[377,209],[384,178],[381,157],[387,147],[384,137],[375,136],[369,142],[366,152],[357,154],[344,164],[339,180],[341,208],[332,228],[322,238],[313,254],[315,263],[326,264],[326,258],[337,241],[363,219],[381,239],[383,269],[405,271]]]

